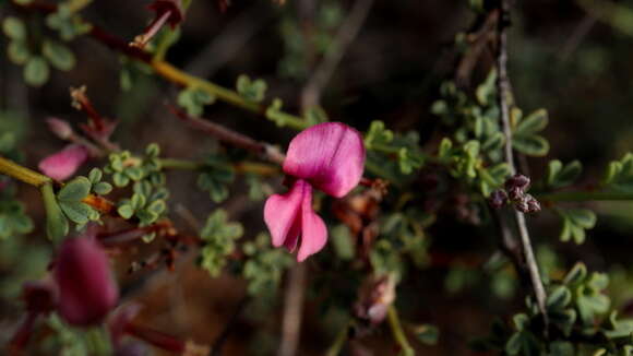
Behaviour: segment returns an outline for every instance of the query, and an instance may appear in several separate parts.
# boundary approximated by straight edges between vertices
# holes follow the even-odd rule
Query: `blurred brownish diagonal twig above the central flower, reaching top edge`
[[[306,84],[301,95],[302,107],[309,108],[319,105],[323,87],[325,87],[332,78],[338,62],[343,59],[347,47],[358,35],[372,4],[373,0],[357,0],[354,3],[349,15],[336,33],[336,38],[332,45],[330,45],[325,58],[323,58],[323,61],[319,68],[316,68],[314,75],[312,75],[308,81],[308,84]]]

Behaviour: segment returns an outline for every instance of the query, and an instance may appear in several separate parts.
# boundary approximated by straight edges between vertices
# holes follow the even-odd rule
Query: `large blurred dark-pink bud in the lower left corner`
[[[94,233],[63,241],[53,266],[53,278],[58,288],[58,312],[72,325],[98,324],[117,305],[119,290],[108,257]]]

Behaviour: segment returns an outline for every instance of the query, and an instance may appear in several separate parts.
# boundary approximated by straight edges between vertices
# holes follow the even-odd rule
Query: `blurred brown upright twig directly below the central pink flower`
[[[301,336],[301,315],[303,311],[307,272],[304,263],[298,263],[289,271],[284,296],[284,319],[282,321],[282,342],[278,356],[294,356],[297,354]]]

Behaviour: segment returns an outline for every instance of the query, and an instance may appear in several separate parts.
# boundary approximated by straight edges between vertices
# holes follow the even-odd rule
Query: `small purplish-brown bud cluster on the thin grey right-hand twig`
[[[524,175],[514,175],[505,181],[504,189],[498,189],[490,193],[488,202],[494,209],[505,204],[513,204],[514,209],[522,213],[536,213],[540,211],[540,203],[526,191],[529,188],[529,178]]]

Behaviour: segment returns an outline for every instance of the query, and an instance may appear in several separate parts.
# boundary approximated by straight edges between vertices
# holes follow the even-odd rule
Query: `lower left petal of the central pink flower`
[[[297,179],[290,191],[285,194],[274,194],[266,200],[264,205],[264,222],[271,232],[273,246],[286,245],[292,250],[299,238],[301,201],[303,191],[312,190],[310,185]]]

